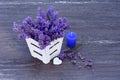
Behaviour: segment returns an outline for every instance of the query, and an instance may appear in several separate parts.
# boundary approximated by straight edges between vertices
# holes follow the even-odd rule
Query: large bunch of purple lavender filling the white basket
[[[28,16],[20,25],[13,23],[13,30],[19,33],[19,39],[32,38],[39,42],[41,49],[51,41],[63,37],[69,27],[66,18],[58,17],[58,12],[53,7],[49,7],[46,12],[38,8],[36,19]]]

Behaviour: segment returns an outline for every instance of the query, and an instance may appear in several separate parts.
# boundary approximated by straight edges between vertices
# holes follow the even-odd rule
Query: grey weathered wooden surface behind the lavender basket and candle
[[[94,61],[93,69],[76,69],[69,61],[44,65],[17,39],[12,23],[37,7],[54,6],[78,34],[77,50]],[[65,48],[65,41],[63,44]],[[80,63],[81,64],[81,63]],[[0,0],[0,80],[119,80],[120,0]]]

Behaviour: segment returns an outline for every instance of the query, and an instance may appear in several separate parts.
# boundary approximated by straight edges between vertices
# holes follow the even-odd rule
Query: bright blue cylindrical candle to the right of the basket
[[[67,46],[72,48],[76,45],[77,34],[75,32],[69,32],[66,34]]]

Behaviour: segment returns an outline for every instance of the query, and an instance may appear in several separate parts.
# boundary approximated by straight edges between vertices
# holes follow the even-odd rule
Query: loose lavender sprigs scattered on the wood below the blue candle
[[[73,51],[70,48],[61,50],[61,53],[59,54],[58,57],[62,61],[68,59],[70,63],[77,66],[78,69],[81,69],[82,67],[92,69],[93,67],[92,60],[87,60],[80,52]],[[84,63],[84,66],[80,63]]]

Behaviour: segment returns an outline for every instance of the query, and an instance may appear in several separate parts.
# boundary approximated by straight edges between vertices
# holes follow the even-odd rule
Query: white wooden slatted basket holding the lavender
[[[43,50],[39,48],[39,43],[32,38],[26,38],[26,42],[31,55],[43,63],[48,64],[51,59],[60,54],[63,38],[52,41],[50,45],[46,46]]]

